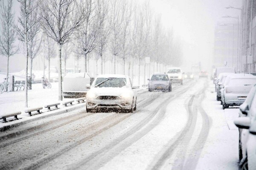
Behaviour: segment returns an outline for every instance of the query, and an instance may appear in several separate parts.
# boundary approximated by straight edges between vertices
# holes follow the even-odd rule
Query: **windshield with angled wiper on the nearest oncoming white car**
[[[125,78],[97,78],[95,82],[95,87],[99,88],[122,88],[125,85]]]

